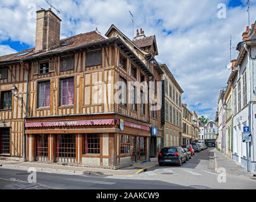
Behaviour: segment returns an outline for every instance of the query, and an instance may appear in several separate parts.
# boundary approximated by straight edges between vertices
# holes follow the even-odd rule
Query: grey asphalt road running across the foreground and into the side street
[[[0,179],[12,180],[0,180],[0,189],[256,189],[256,180],[248,176],[227,175],[226,182],[218,182],[213,155],[208,149],[196,153],[181,167],[156,166],[132,176],[37,172],[37,184],[22,183],[28,182],[30,174],[24,170],[0,169]]]

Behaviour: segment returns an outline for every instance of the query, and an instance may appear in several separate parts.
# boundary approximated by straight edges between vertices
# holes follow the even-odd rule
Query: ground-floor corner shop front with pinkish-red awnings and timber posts
[[[149,159],[149,126],[116,118],[73,119],[27,121],[27,160],[118,169]]]

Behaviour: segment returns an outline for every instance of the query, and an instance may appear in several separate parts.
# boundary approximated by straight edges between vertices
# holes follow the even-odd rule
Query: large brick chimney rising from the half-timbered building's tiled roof
[[[37,11],[35,51],[51,50],[59,46],[61,19],[51,8]]]

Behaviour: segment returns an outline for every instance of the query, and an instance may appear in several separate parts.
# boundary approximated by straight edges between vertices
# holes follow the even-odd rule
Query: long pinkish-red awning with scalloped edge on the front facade
[[[58,126],[95,126],[95,125],[114,125],[115,119],[95,119],[83,121],[51,121],[51,122],[26,122],[25,127],[58,127]]]

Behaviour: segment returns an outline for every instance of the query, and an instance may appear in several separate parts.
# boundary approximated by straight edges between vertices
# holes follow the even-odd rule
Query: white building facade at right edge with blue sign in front
[[[233,152],[236,162],[250,171],[256,172],[256,33],[243,33],[243,42],[237,46],[238,59],[235,64],[233,81]],[[248,32],[250,32],[248,34]],[[248,34],[248,36],[247,36]],[[249,126],[252,142],[242,141],[243,127]]]

